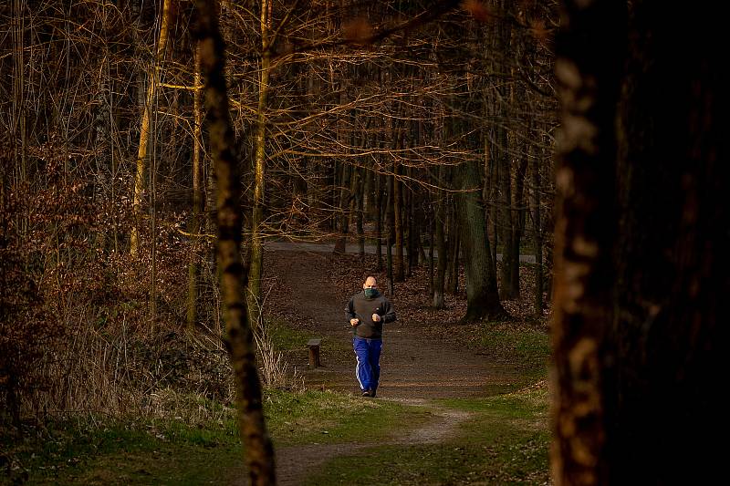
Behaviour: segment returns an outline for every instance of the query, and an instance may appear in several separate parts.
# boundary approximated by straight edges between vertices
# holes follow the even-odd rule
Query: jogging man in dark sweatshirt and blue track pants
[[[382,325],[395,320],[395,310],[380,292],[374,277],[362,284],[362,292],[349,299],[345,309],[352,326],[352,346],[358,357],[355,375],[363,397],[375,397],[381,377]]]

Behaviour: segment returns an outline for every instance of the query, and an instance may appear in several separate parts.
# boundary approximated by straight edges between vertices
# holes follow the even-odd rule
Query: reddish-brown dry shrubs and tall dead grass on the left
[[[205,257],[212,243],[178,231],[187,215],[161,212],[154,242],[142,231],[132,258],[123,251],[131,219],[110,217],[131,214],[129,200],[105,202],[107,195],[67,178],[52,153],[44,184],[33,187],[7,172],[7,160],[0,160],[0,413],[11,412],[17,425],[46,414],[181,416],[200,400],[233,403],[217,274]],[[189,334],[193,253],[200,319]],[[290,386],[271,340],[257,337],[262,380]]]

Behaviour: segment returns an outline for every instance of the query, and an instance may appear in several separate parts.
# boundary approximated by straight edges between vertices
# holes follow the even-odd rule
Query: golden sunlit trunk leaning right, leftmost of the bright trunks
[[[137,256],[140,246],[140,227],[142,220],[142,197],[145,188],[145,175],[147,171],[147,145],[150,140],[151,111],[155,106],[157,87],[160,84],[162,60],[167,47],[167,37],[172,18],[172,1],[162,2],[162,22],[160,25],[160,38],[157,41],[157,52],[154,58],[154,65],[150,69],[149,85],[147,86],[147,97],[144,103],[144,112],[140,127],[140,145],[137,149],[137,164],[134,175],[134,194],[132,197],[132,211],[134,212],[134,223],[130,232],[130,253]]]

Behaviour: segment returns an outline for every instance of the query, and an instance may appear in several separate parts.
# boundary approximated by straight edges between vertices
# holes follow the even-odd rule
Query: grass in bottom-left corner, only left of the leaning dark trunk
[[[12,482],[27,484],[197,484],[216,463],[241,457],[233,420],[191,427],[175,419],[49,420],[24,439],[3,439]],[[8,438],[9,439],[9,438]]]

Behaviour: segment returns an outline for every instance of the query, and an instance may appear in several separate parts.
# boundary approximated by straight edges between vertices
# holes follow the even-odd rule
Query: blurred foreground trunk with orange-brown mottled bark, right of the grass
[[[593,0],[565,6],[556,61],[563,127],[556,168],[551,465],[558,485],[610,484],[609,397],[615,393],[616,359],[610,343],[617,230],[613,127],[626,5]]]

